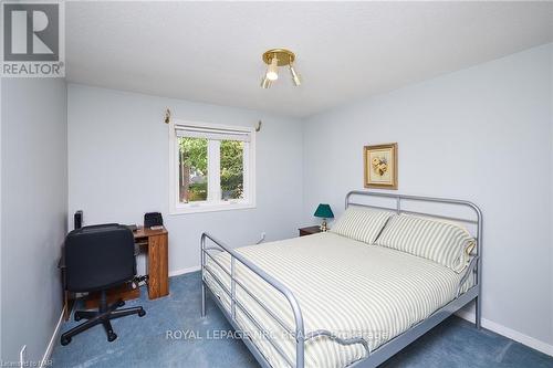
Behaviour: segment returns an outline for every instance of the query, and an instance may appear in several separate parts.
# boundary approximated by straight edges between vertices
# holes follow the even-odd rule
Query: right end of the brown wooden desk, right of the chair
[[[167,230],[138,228],[134,232],[135,242],[148,253],[146,273],[148,274],[148,297],[156,299],[169,295],[169,256]]]

